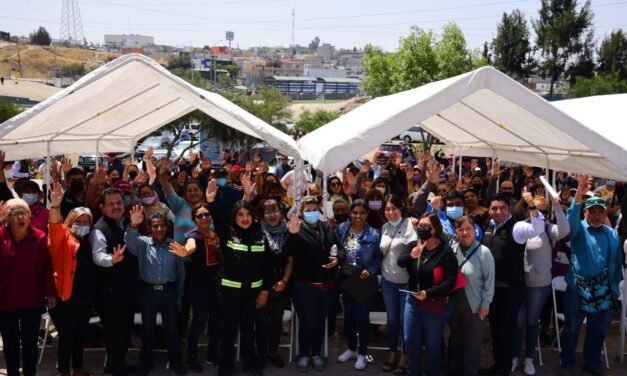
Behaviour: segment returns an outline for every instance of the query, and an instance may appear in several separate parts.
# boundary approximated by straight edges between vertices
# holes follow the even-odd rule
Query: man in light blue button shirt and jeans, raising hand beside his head
[[[152,236],[139,236],[137,229],[143,220],[143,208],[139,205],[133,207],[131,224],[125,236],[128,251],[137,256],[141,279],[142,350],[137,375],[145,376],[154,368],[152,350],[157,312],[161,313],[166,333],[170,368],[177,375],[185,375],[187,370],[181,361],[177,329],[177,311],[185,281],[183,259],[170,251],[172,241],[166,237],[167,220],[162,212],[157,211],[148,219]]]

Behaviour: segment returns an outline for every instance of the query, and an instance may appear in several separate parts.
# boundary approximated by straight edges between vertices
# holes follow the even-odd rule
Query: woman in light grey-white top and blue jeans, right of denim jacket
[[[379,249],[383,256],[381,264],[381,293],[387,312],[387,342],[390,352],[383,363],[383,371],[394,371],[394,374],[406,373],[407,357],[399,356],[398,345],[402,337],[403,317],[405,312],[405,296],[400,290],[407,290],[409,273],[398,266],[398,257],[405,252],[409,244],[418,239],[410,218],[406,217],[404,200],[391,195],[385,201],[385,217],[388,222],[381,229]],[[399,333],[401,336],[399,337]]]

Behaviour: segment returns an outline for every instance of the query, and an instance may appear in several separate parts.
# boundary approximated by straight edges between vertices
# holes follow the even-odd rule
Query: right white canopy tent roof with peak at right
[[[375,98],[304,136],[298,146],[304,159],[331,172],[412,126],[457,155],[627,180],[624,147],[492,67]]]

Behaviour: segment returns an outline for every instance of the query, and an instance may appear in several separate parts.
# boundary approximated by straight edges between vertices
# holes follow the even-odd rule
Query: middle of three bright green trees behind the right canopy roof
[[[441,76],[434,45],[433,32],[411,27],[410,34],[401,40],[394,56],[393,92],[413,89]]]

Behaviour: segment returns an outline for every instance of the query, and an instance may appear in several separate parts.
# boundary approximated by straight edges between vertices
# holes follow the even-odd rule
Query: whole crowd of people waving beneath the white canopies
[[[149,149],[143,161],[111,156],[89,174],[53,160],[42,189],[26,161],[5,162],[0,152],[10,167],[0,174],[0,332],[9,376],[20,367],[35,374],[45,310],[58,331],[62,376],[90,374],[83,346],[93,315],[104,328],[105,373],[149,374],[158,313],[177,375],[201,372],[202,363],[233,374],[236,341],[243,372],[261,375],[266,363],[285,365],[278,349],[291,304],[299,370],[325,369],[325,330],[335,331],[340,306],[347,348],[337,361],[363,370],[379,297],[389,350],[383,371],[509,375],[520,367],[533,375],[556,276],[568,285],[561,372],[574,374],[587,320],[583,370],[601,374],[623,276],[621,183],[558,172],[551,182],[558,197],[550,197],[539,179],[547,171],[490,159],[447,166],[425,150],[355,161],[328,176],[305,171],[296,205],[286,156],[274,172],[258,154],[223,157],[214,166],[190,153],[173,164]],[[136,312],[135,368],[126,355]],[[486,321],[493,363],[482,368]]]

